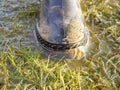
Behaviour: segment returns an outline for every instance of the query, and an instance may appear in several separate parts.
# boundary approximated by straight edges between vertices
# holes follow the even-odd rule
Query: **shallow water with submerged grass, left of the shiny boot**
[[[6,44],[21,43],[27,47],[34,47],[34,20],[18,18],[19,14],[32,4],[40,4],[38,0],[0,0],[0,48]],[[32,6],[31,6],[32,7]]]

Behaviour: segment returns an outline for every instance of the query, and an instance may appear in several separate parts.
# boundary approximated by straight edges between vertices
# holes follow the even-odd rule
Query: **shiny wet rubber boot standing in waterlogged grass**
[[[89,31],[79,0],[42,0],[35,35],[47,56],[80,60],[89,46]]]

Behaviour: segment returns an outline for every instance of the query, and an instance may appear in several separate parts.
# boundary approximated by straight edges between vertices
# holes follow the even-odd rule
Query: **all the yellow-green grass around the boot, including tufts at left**
[[[23,24],[13,26],[11,31],[0,28],[1,90],[120,90],[120,1],[108,1],[81,2],[91,33],[86,59],[45,59],[38,50],[21,43],[28,34]],[[37,8],[28,5],[17,21],[31,23]],[[21,39],[17,38],[20,34]]]

